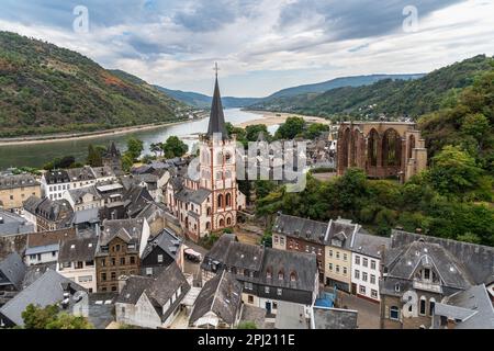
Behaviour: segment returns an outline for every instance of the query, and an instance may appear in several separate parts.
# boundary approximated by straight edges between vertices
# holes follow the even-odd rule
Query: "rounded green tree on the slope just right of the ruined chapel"
[[[476,167],[473,157],[450,145],[433,158],[433,167],[428,171],[434,189],[442,195],[459,197],[475,189],[481,174],[482,169]]]

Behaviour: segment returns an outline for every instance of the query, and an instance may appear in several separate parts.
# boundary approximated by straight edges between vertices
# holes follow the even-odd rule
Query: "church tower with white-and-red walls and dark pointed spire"
[[[200,188],[211,191],[206,216],[211,231],[236,225],[237,211],[245,207],[236,174],[236,137],[228,135],[220,84],[214,86],[207,133],[200,138]]]

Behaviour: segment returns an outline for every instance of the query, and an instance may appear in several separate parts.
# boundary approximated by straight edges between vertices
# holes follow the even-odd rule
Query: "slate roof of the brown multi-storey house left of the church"
[[[143,218],[133,219],[105,219],[102,224],[103,230],[100,234],[100,245],[106,246],[113,238],[120,236],[126,241],[141,241],[143,234]]]

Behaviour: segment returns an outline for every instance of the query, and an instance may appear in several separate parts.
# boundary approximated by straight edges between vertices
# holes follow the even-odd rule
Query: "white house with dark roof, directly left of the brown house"
[[[98,237],[75,238],[60,242],[57,272],[85,287],[97,291],[94,253]]]

